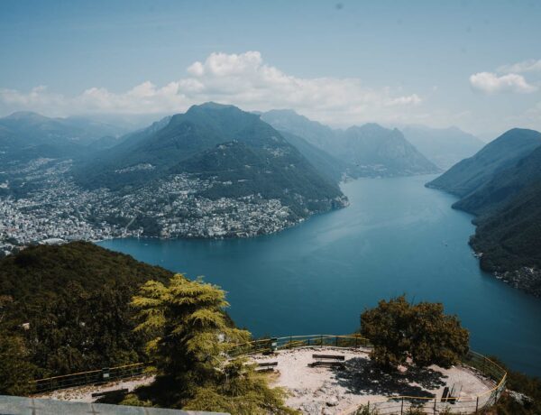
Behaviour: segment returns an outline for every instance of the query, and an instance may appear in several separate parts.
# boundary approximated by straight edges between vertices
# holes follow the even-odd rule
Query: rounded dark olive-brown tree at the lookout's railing
[[[405,296],[381,300],[361,315],[361,333],[374,346],[371,358],[387,369],[413,364],[450,367],[468,352],[469,333],[441,303],[408,303]]]

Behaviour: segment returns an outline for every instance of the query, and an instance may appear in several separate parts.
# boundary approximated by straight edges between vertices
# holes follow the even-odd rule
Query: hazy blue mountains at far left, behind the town
[[[105,135],[122,133],[125,131],[114,125],[82,117],[17,112],[0,118],[0,162],[80,157],[87,153],[87,145]]]

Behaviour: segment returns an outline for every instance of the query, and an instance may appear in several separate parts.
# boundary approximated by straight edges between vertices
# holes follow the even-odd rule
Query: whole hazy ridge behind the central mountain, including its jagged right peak
[[[439,171],[396,129],[364,124],[345,131],[334,130],[292,110],[269,111],[262,114],[261,119],[280,131],[304,138],[334,156],[345,165],[344,171],[353,177],[400,176]]]

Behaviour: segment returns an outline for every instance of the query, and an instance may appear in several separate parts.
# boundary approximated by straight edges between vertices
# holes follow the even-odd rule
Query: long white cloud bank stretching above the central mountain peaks
[[[179,80],[162,87],[146,81],[122,93],[96,87],[66,97],[44,87],[28,93],[0,88],[0,111],[46,115],[172,114],[211,100],[246,110],[293,108],[334,124],[403,120],[423,101],[417,94],[369,88],[359,78],[298,78],[265,63],[259,51],[212,53]]]

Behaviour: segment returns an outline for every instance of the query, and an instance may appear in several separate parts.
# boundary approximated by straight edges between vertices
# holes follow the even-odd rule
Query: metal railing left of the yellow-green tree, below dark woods
[[[79,372],[78,374],[64,374],[52,376],[44,379],[32,381],[34,393],[51,392],[59,389],[67,389],[75,386],[87,384],[106,383],[118,381],[120,379],[140,376],[144,373],[147,364],[124,364],[88,372]]]

